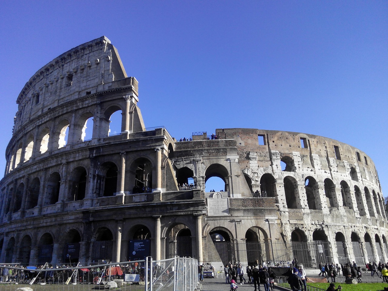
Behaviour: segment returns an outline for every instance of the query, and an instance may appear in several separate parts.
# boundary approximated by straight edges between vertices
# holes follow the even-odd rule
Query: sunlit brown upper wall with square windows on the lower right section
[[[349,167],[354,167],[362,178],[375,180],[380,186],[372,159],[365,152],[338,140],[306,133],[255,128],[223,128],[217,129],[216,134],[236,140],[241,168],[249,167],[249,152],[257,153],[258,166],[261,168],[271,165],[273,152],[279,152],[280,158],[292,158],[293,152],[298,152],[302,168],[347,173]]]

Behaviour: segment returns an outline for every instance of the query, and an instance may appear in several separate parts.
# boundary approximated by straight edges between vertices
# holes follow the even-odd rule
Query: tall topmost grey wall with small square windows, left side
[[[85,95],[108,90],[127,78],[116,48],[105,36],[68,50],[39,69],[17,97],[15,128],[30,119]],[[132,78],[137,94],[137,81]]]

